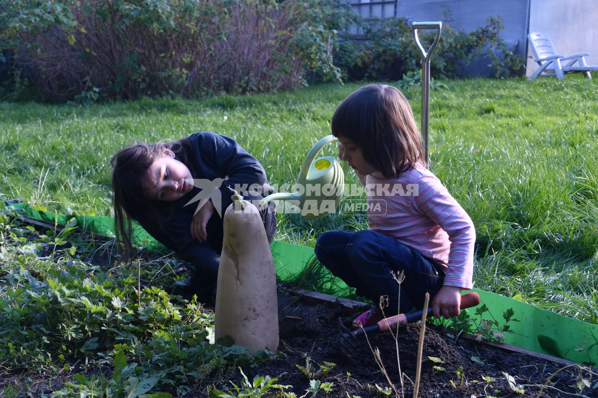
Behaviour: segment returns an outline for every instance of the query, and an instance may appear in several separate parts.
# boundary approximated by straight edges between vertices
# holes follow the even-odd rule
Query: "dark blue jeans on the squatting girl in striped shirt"
[[[426,292],[430,302],[443,286],[444,270],[439,264],[390,236],[370,230],[358,232],[329,231],[316,243],[316,257],[322,265],[358,295],[378,304],[380,296],[388,295],[385,313],[405,313],[411,308],[422,308]],[[391,273],[404,271],[399,285]]]

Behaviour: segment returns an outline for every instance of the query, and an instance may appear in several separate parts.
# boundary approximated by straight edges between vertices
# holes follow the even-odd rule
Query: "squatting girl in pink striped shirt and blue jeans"
[[[325,232],[315,252],[334,276],[374,302],[353,327],[422,308],[426,292],[434,316],[459,315],[461,291],[472,287],[474,225],[428,170],[407,98],[388,85],[359,88],[334,112],[332,134],[338,158],[365,186],[370,228]],[[399,300],[393,274],[401,271]],[[379,303],[388,307],[382,311]]]

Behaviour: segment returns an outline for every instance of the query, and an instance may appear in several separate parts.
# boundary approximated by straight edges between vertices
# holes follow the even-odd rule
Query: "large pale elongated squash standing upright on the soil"
[[[216,339],[229,335],[251,353],[278,348],[274,261],[258,209],[235,192],[224,213],[216,285]]]

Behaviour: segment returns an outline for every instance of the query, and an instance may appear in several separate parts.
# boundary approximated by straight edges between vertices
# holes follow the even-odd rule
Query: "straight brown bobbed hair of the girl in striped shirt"
[[[411,106],[395,87],[370,84],[353,91],[337,107],[331,127],[387,178],[426,164]]]

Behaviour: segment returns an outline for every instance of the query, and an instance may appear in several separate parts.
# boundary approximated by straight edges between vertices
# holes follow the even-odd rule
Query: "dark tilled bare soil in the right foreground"
[[[371,348],[378,348],[380,359],[385,366],[390,381],[401,393],[399,379],[399,363],[401,372],[404,373],[404,396],[413,396],[413,382],[416,375],[417,345],[419,344],[420,325],[414,323],[398,331],[398,339],[392,338],[390,332],[370,335],[369,345],[365,338],[355,344],[354,356],[358,363],[347,360],[340,350],[340,340],[337,320],[340,314],[344,324],[349,326],[355,315],[340,313],[338,308],[329,308],[327,304],[309,305],[297,300],[297,297],[279,294],[279,318],[285,316],[300,317],[296,328],[287,337],[280,338],[279,350],[285,357],[274,360],[267,365],[257,368],[243,369],[249,379],[255,375],[269,375],[276,377],[282,375],[277,381],[279,384],[290,384],[298,397],[306,393],[309,381],[296,365],[305,366],[305,356],[312,359],[315,369],[324,362],[336,364],[325,382],[334,383],[329,397],[353,396],[377,397],[384,396],[379,393],[376,384],[381,388],[390,387],[385,375],[380,372],[374,360]],[[370,348],[371,346],[371,348]],[[399,361],[397,361],[397,346]],[[433,363],[428,356],[437,357],[444,363]],[[471,360],[478,357],[486,362],[480,365]],[[314,363],[315,362],[315,363]],[[444,367],[446,370],[438,371],[434,365]],[[457,377],[457,369],[463,367],[462,376]],[[555,374],[564,365],[538,359],[526,354],[512,353],[500,348],[490,347],[485,344],[469,340],[457,340],[447,336],[437,326],[426,326],[425,340],[422,354],[422,372],[420,377],[419,396],[421,397],[536,397],[547,378]],[[587,368],[586,368],[587,369]],[[516,385],[524,390],[517,393],[509,387],[509,382],[503,372],[514,379]],[[594,369],[595,372],[595,369]],[[598,397],[598,388],[584,388],[580,391],[576,387],[578,368],[564,369],[556,374],[548,383],[540,397],[569,397],[570,394],[582,394],[586,397]],[[588,378],[587,372],[582,372]],[[239,385],[240,374],[237,372],[233,382]],[[492,381],[487,382],[485,377]],[[454,386],[453,386],[453,383]],[[591,387],[596,385],[596,378],[591,381]],[[222,387],[222,386],[218,386]],[[230,387],[230,385],[229,385]],[[200,391],[194,391],[198,396],[204,396]],[[205,394],[205,393],[204,393]],[[311,396],[311,394],[308,394]],[[318,396],[324,396],[324,391],[319,391]],[[394,396],[394,393],[392,394]]]

